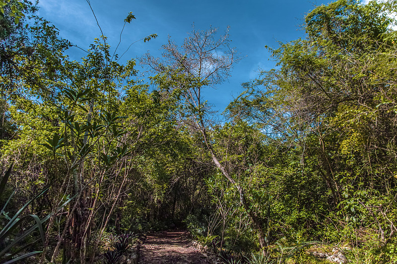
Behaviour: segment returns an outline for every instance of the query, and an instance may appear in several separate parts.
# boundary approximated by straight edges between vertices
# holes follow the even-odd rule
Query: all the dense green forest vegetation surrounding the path
[[[114,234],[174,227],[268,262],[397,262],[396,1],[315,8],[222,122],[202,89],[239,60],[227,31],[143,55],[142,83],[105,36],[72,61],[34,5],[0,6],[1,263],[93,263]]]

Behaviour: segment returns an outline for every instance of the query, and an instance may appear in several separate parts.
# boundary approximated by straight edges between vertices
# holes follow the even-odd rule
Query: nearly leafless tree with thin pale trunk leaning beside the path
[[[246,199],[245,190],[239,182],[230,175],[226,167],[219,161],[209,137],[208,127],[211,124],[209,106],[202,99],[202,89],[215,87],[231,75],[233,65],[240,60],[240,56],[234,48],[230,47],[229,27],[224,34],[217,36],[217,28],[206,31],[193,29],[185,38],[181,47],[168,38],[168,43],[163,46],[162,58],[154,58],[146,53],[140,62],[149,66],[150,71],[157,74],[177,73],[179,78],[173,82],[170,88],[179,88],[183,91],[185,104],[189,111],[189,118],[185,119],[188,126],[199,130],[203,136],[205,146],[211,154],[212,161],[222,172],[226,179],[236,186],[240,194],[240,202],[249,215],[253,227],[258,231],[259,242],[265,250],[265,233],[261,222]],[[182,78],[181,78],[182,76]],[[175,77],[174,77],[175,78]],[[170,83],[169,83],[170,85]]]

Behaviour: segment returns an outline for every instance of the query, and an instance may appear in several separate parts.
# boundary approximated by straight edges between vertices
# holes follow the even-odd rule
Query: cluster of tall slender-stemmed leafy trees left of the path
[[[70,43],[59,39],[54,25],[33,16],[25,27],[22,16],[16,19],[13,4],[22,8],[22,2],[28,3],[0,1],[1,26],[8,25],[6,31],[0,28],[1,158],[15,160],[12,184],[22,201],[35,189],[51,186],[35,204],[42,214],[50,208],[42,261],[54,262],[63,247],[67,259],[85,263],[87,249],[92,245],[93,258],[133,181],[135,157],[126,146],[133,136],[125,135],[125,117],[119,113],[122,91],[134,84],[135,61],[117,63],[104,36],[81,62],[70,61],[64,54]],[[35,8],[30,3],[23,10]],[[130,13],[125,22],[132,18]],[[69,195],[76,199],[58,210]],[[30,210],[35,211],[33,204]],[[48,256],[51,241],[57,242]]]

